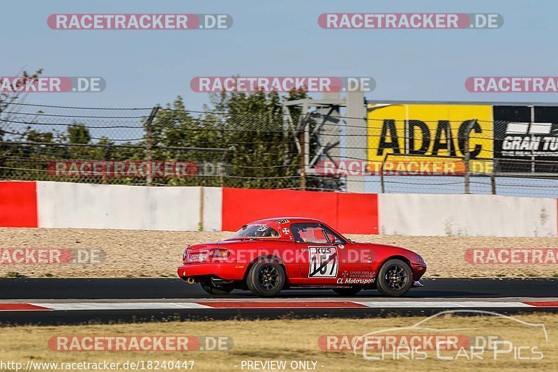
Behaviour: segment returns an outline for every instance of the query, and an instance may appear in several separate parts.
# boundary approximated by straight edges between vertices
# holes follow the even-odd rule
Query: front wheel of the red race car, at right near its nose
[[[384,263],[377,276],[377,288],[384,296],[405,295],[413,284],[413,272],[407,262],[393,259]]]

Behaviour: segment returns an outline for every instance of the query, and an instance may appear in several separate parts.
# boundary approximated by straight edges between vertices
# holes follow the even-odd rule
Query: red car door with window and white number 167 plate
[[[351,262],[345,241],[333,240],[319,223],[291,225],[297,249],[301,283],[308,285],[337,285],[342,272],[360,270],[361,263]]]

